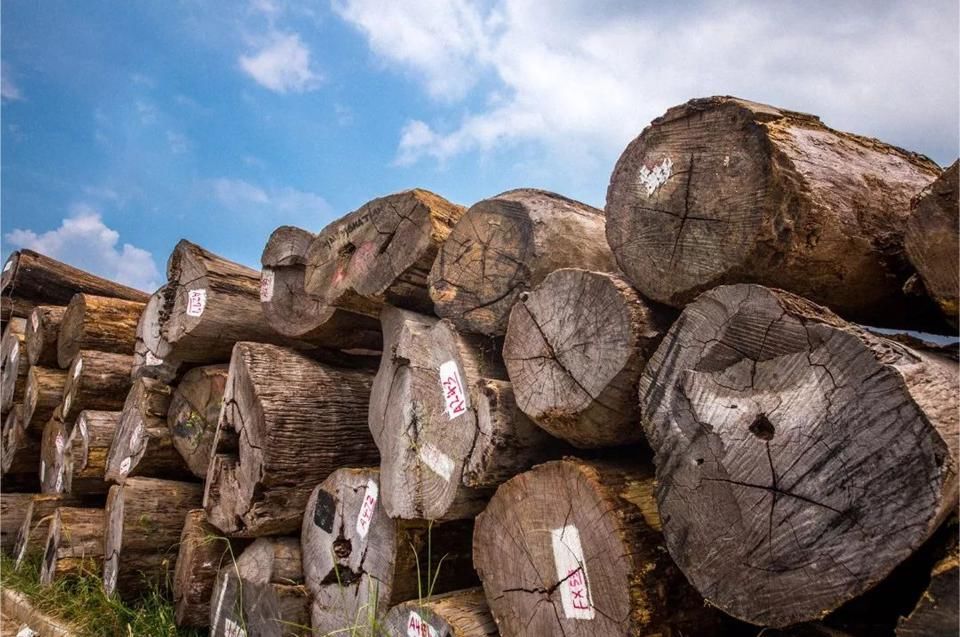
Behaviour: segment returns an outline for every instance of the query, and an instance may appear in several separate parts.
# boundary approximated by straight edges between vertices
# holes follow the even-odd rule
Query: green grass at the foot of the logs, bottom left
[[[24,560],[14,570],[13,559],[0,557],[0,585],[23,593],[40,611],[76,627],[84,637],[201,637],[206,631],[179,628],[173,604],[159,589],[133,604],[107,596],[99,570],[66,577],[52,586],[40,585],[41,556]]]

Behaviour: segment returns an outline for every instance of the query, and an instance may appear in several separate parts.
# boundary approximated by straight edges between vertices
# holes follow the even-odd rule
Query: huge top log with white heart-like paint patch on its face
[[[683,307],[722,283],[790,290],[859,322],[917,325],[903,228],[932,161],[812,115],[695,99],[627,146],[607,239],[646,297]]]

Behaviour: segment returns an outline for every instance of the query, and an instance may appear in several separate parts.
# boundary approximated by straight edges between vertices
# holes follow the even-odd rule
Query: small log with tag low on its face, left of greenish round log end
[[[117,484],[130,476],[193,480],[167,427],[172,396],[173,388],[159,380],[144,377],[133,382],[107,455],[107,480]]]

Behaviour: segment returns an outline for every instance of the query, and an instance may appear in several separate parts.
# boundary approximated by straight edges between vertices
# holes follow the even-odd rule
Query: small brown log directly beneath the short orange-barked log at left
[[[95,350],[82,350],[67,372],[60,412],[72,428],[77,415],[85,409],[119,411],[130,391],[130,366],[133,357]]]

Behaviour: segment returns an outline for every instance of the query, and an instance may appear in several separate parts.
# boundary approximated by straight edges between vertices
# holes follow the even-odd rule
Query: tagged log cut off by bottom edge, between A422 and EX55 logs
[[[382,624],[389,637],[500,637],[482,588],[397,604]]]

